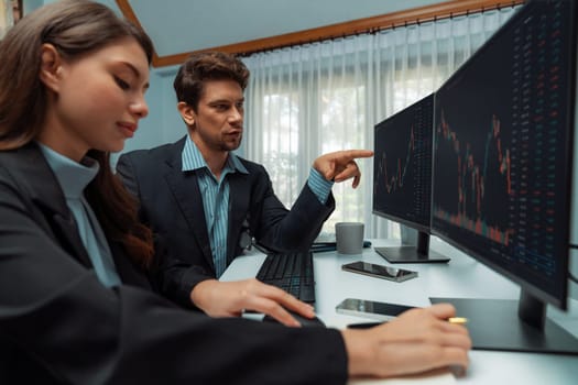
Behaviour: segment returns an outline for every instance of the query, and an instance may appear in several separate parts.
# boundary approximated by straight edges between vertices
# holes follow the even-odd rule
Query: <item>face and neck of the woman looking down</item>
[[[80,56],[54,70],[39,140],[75,161],[88,150],[118,152],[149,113],[146,55],[132,37]]]

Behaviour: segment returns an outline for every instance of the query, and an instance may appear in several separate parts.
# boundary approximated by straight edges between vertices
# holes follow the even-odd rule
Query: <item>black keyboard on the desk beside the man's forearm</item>
[[[304,302],[315,302],[313,253],[269,253],[257,278],[282,288]]]

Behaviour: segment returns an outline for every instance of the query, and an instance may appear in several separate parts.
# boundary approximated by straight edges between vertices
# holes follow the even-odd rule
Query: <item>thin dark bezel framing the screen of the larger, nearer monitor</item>
[[[523,6],[517,12],[527,12],[525,10],[526,7],[532,7],[535,2],[537,1],[528,1],[525,6]],[[571,10],[571,13],[576,16],[576,2],[574,0],[570,1],[570,10]],[[512,15],[512,18],[515,18],[516,15]],[[570,42],[577,42],[577,38],[576,38],[576,30],[577,30],[577,24],[578,21],[576,20],[572,20],[570,22]],[[488,47],[490,47],[494,40],[497,38],[500,38],[501,35],[503,35],[505,32],[509,31],[509,29],[512,28],[508,22],[502,25],[487,42],[484,42],[480,48],[478,48],[446,81],[444,81],[444,84],[438,88],[438,91],[441,90],[444,87],[447,87],[448,85],[451,85],[456,81],[456,79],[458,77],[461,77],[462,73],[466,70],[466,69],[469,69],[469,66],[470,64],[476,61],[480,55],[483,55],[486,53],[486,51],[488,50]],[[575,117],[575,112],[576,112],[576,103],[577,103],[577,90],[576,90],[576,70],[577,70],[577,66],[576,66],[576,63],[577,63],[577,47],[576,47],[576,44],[569,44],[570,45],[570,54],[569,54],[569,57],[568,57],[568,65],[569,67],[572,69],[571,70],[571,74],[570,74],[570,87],[568,87],[568,95],[566,96],[566,100],[569,100],[569,106],[568,106],[568,116],[567,116],[567,121],[566,121],[566,127],[574,127],[574,129],[570,129],[566,132],[566,141],[565,141],[565,156],[567,158],[567,169],[566,169],[566,178],[568,182],[567,184],[567,191],[566,191],[566,196],[564,197],[564,206],[565,207],[568,207],[570,208],[570,202],[571,202],[571,188],[572,188],[572,184],[571,184],[571,178],[572,178],[572,172],[574,172],[574,135],[576,134],[575,131],[576,131],[576,117]],[[437,122],[437,106],[438,106],[438,91],[435,92],[435,96],[434,96],[434,122]],[[435,124],[435,123],[434,123]],[[435,127],[434,127],[434,130],[435,130]],[[434,131],[434,147],[435,147],[435,131]],[[432,170],[432,177],[435,178],[435,170],[436,170],[436,166],[435,166],[435,162],[436,162],[436,154],[435,154],[435,148],[434,148],[434,152],[432,154],[433,156],[433,170]],[[433,179],[434,180],[434,179]],[[434,207],[434,202],[435,202],[435,184],[433,183],[432,184],[432,208]],[[537,287],[534,283],[532,282],[528,282],[526,279],[524,279],[523,277],[519,276],[515,274],[515,272],[512,272],[510,270],[506,270],[504,267],[502,267],[501,265],[492,262],[488,256],[484,256],[482,255],[481,253],[475,251],[475,250],[471,250],[470,248],[468,248],[467,244],[464,244],[460,242],[460,240],[456,240],[454,239],[451,235],[449,234],[446,234],[446,232],[443,230],[443,229],[438,229],[436,226],[435,226],[435,221],[434,221],[434,218],[433,218],[433,212],[432,212],[432,220],[430,220],[430,231],[432,231],[432,234],[435,235],[435,237],[438,237],[440,238],[441,240],[446,241],[447,243],[449,243],[450,245],[455,246],[456,249],[467,253],[468,255],[471,255],[476,261],[478,262],[481,262],[483,263],[484,265],[487,265],[488,267],[492,268],[493,271],[498,272],[500,275],[506,277],[508,279],[514,282],[515,284],[517,284],[522,290],[526,290],[527,293],[530,293],[531,295],[535,296],[536,298],[545,301],[545,302],[548,302],[548,304],[552,304],[563,310],[566,310],[567,309],[567,304],[568,304],[568,277],[569,277],[569,244],[570,244],[570,230],[571,230],[571,213],[570,213],[570,210],[566,210],[566,212],[564,213],[564,221],[565,223],[567,223],[567,226],[565,227],[565,229],[563,229],[564,231],[564,234],[561,235],[563,239],[564,239],[564,242],[567,244],[567,253],[564,253],[564,255],[561,256],[558,256],[558,263],[560,265],[560,268],[564,270],[564,277],[565,277],[565,284],[563,285],[563,288],[561,288],[561,293],[559,294],[559,297],[550,294],[550,293],[547,293],[547,292],[544,292],[542,288]]]

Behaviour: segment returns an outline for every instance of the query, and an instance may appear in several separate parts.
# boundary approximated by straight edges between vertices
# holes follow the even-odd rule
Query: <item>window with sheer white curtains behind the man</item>
[[[291,207],[320,154],[373,148],[373,125],[434,91],[513,13],[508,8],[341,40],[306,44],[243,59],[248,86],[244,156],[269,170]],[[362,183],[336,184],[338,221],[363,221],[366,237],[399,238],[396,223],[371,213],[373,163],[358,162]]]

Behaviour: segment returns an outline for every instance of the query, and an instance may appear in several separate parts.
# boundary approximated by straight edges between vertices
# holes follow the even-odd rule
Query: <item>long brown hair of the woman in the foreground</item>
[[[149,36],[100,3],[57,1],[12,26],[0,41],[0,151],[22,147],[42,130],[47,109],[47,89],[40,80],[43,44],[52,44],[64,59],[74,61],[126,37],[140,44],[150,64]],[[90,151],[89,155],[100,163],[100,172],[87,188],[87,199],[107,238],[120,242],[139,265],[148,266],[152,234],[138,221],[134,198],[112,174],[109,153]]]

